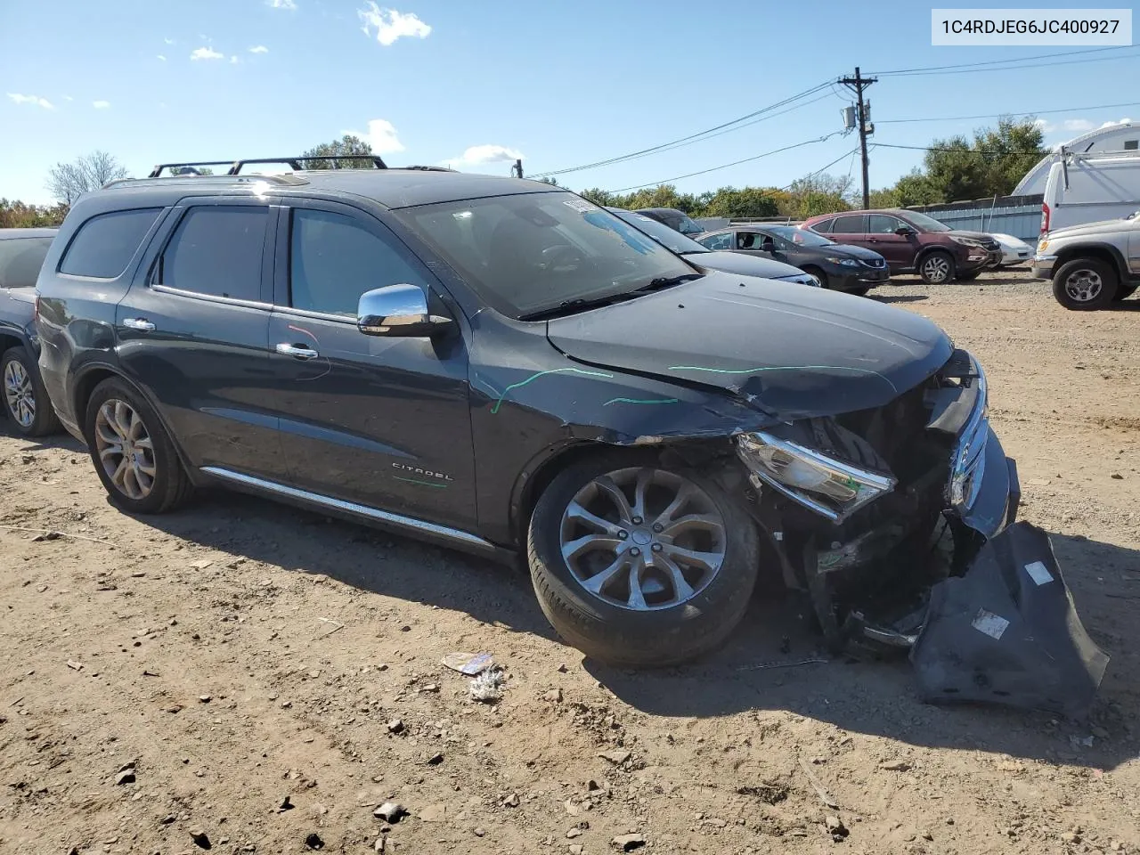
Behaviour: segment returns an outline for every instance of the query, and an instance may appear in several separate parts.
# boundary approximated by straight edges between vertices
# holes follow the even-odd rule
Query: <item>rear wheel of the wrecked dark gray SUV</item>
[[[166,513],[189,498],[193,486],[157,413],[122,380],[95,388],[83,435],[99,480],[123,511]]]

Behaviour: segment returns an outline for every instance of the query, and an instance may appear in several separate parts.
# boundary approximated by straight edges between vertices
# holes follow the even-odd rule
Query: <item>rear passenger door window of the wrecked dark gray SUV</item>
[[[158,283],[197,294],[261,299],[267,207],[192,207],[166,244]]]

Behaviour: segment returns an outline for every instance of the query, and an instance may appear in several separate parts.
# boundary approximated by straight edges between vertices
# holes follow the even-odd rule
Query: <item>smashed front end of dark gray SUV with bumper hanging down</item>
[[[1107,657],[1048,536],[1015,523],[1017,466],[969,353],[885,407],[742,433],[736,453],[832,650],[909,651],[933,701],[1088,711]]]

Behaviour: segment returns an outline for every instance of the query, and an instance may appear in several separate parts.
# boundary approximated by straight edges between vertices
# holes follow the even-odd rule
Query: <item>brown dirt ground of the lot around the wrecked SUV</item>
[[[801,663],[805,603],[771,592],[707,661],[603,668],[504,568],[227,494],[131,519],[74,441],[0,422],[0,852],[1140,853],[1140,300],[1067,312],[1016,274],[877,299],[985,364],[1023,519],[1112,656],[1090,723]],[[453,651],[506,668],[499,703]]]

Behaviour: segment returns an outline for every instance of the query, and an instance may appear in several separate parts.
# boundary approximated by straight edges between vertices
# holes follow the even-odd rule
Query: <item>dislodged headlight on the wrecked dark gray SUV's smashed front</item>
[[[816,497],[811,495],[811,490],[807,488],[784,483],[780,480],[779,472],[765,462],[762,449],[782,451],[791,459],[806,464],[821,475],[838,479],[855,491],[854,498],[837,510],[826,504],[823,495]],[[815,449],[780,439],[766,431],[738,434],[736,454],[751,473],[754,486],[759,487],[759,482],[766,483],[777,492],[834,523],[842,522],[868,503],[890,492],[897,483],[894,477],[870,472],[842,461],[832,459]],[[839,499],[832,500],[839,503]]]

